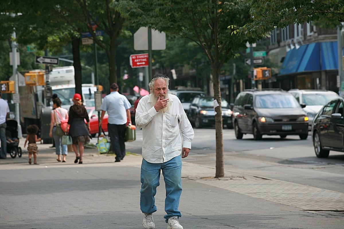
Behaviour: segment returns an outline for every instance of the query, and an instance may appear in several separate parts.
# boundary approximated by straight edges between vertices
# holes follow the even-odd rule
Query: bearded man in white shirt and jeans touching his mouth
[[[142,164],[140,208],[143,213],[142,225],[154,229],[153,212],[155,193],[159,186],[160,172],[164,176],[165,222],[168,229],[183,229],[179,223],[178,210],[182,193],[182,158],[191,149],[194,131],[175,95],[169,93],[169,78],[154,75],[149,83],[150,94],[140,99],[135,122],[142,128]]]

